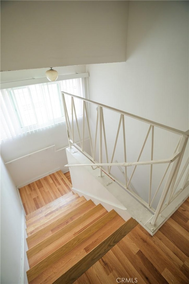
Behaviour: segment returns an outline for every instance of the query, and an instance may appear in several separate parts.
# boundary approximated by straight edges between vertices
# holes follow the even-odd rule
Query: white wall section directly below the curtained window
[[[82,128],[82,118],[78,119],[79,128]],[[85,125],[85,138],[88,133]],[[74,123],[75,141],[79,141],[76,123]],[[1,143],[1,155],[12,176],[15,185],[19,188],[42,178],[52,172],[69,169],[64,167],[68,162],[65,147],[68,147],[68,138],[65,122],[44,130],[27,133],[13,140]],[[82,132],[81,132],[82,133]],[[54,145],[54,146],[53,146]],[[80,144],[79,144],[80,146]],[[48,149],[46,149],[48,148]],[[89,140],[84,143],[84,149],[89,150]]]

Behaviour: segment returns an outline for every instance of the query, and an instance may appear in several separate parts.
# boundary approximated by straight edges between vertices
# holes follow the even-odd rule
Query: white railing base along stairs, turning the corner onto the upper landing
[[[71,164],[91,164],[91,161],[79,152],[75,147],[67,148],[66,155],[68,163]],[[151,225],[153,213],[147,210],[139,201],[133,198],[128,192],[121,188],[115,181],[107,175],[100,177],[100,169],[93,170],[87,167],[69,167],[73,189],[86,199],[92,199],[95,204],[101,203],[109,211],[110,207],[128,220],[130,217],[141,224],[145,230],[154,235],[166,220],[177,210],[177,208],[187,199],[187,186],[183,191],[179,191],[173,202],[159,214],[155,225]],[[120,211],[120,212],[118,212]],[[128,219],[127,219],[128,218]]]

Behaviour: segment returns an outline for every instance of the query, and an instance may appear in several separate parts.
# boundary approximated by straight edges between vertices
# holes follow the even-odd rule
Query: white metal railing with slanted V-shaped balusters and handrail
[[[66,106],[66,100],[65,100],[65,95],[66,96],[71,96],[71,114],[69,116],[68,114],[68,109]],[[75,99],[79,99],[83,101],[83,125],[82,125],[82,135],[81,135],[81,130],[79,129],[78,125],[78,120],[76,116],[76,110],[75,110]],[[151,222],[152,225],[155,224],[159,214],[162,212],[162,209],[165,208],[170,202],[172,201],[173,196],[175,194],[175,191],[177,190],[177,187],[183,178],[183,175],[186,174],[186,177],[184,178],[184,182],[182,185],[182,190],[186,188],[189,184],[189,169],[188,169],[188,164],[189,164],[189,159],[187,159],[179,177],[177,177],[179,169],[180,169],[180,164],[183,158],[183,154],[186,148],[186,144],[188,141],[188,136],[189,136],[189,130],[184,132],[175,128],[168,127],[166,125],[159,124],[157,122],[151,121],[144,119],[142,117],[121,111],[119,109],[115,109],[113,107],[97,103],[95,101],[90,101],[89,99],[81,98],[66,92],[62,92],[62,100],[63,100],[63,106],[64,106],[64,113],[65,113],[65,118],[66,118],[66,126],[67,126],[67,133],[68,133],[68,141],[69,141],[69,147],[71,145],[74,145],[79,151],[81,151],[85,156],[87,156],[90,161],[92,162],[91,164],[71,164],[67,165],[69,167],[74,167],[74,166],[96,166],[96,168],[100,168],[100,177],[102,177],[103,172],[105,172],[107,175],[109,175],[111,178],[113,178],[118,184],[120,184],[126,191],[128,191],[135,199],[137,199],[141,204],[143,204],[150,212],[154,214],[153,220]],[[95,135],[94,135],[94,141],[92,140],[92,135],[91,135],[91,129],[90,129],[90,123],[89,123],[89,115],[88,115],[88,109],[87,109],[87,104],[94,104],[97,106],[97,119],[96,119],[96,129],[95,129]],[[111,153],[111,159],[109,159],[109,149],[107,147],[107,141],[106,141],[106,130],[105,130],[105,122],[104,122],[104,114],[103,114],[103,109],[109,109],[113,112],[117,112],[120,114],[120,119],[119,119],[119,124],[118,124],[118,130],[115,138],[115,143],[114,143],[114,148],[113,152]],[[146,124],[149,124],[148,131],[146,133],[146,137],[144,139],[144,143],[142,145],[141,151],[139,153],[138,159],[136,162],[127,162],[127,153],[126,153],[126,132],[125,132],[125,117],[131,117],[135,120],[140,120]],[[76,129],[77,129],[77,134],[79,137],[79,142],[80,142],[80,147],[75,143],[75,134],[74,134],[74,120],[76,122]],[[88,129],[88,134],[89,134],[89,141],[90,141],[90,150],[91,154],[86,153],[84,151],[84,137],[85,137],[85,123],[87,123],[87,129]],[[124,152],[124,160],[123,162],[120,163],[113,163],[113,159],[115,157],[115,150],[116,146],[118,143],[118,136],[120,133],[120,128],[122,125],[122,130],[123,130],[123,152]],[[179,135],[179,141],[175,147],[175,150],[173,154],[171,155],[170,158],[168,159],[159,159],[159,160],[154,160],[154,127],[156,128],[162,128],[164,130],[167,130],[169,132],[175,133]],[[149,134],[151,132],[151,159],[149,161],[139,161],[141,158],[141,155],[143,153],[144,147],[146,145],[146,141],[149,137]],[[99,145],[98,145],[98,151],[99,151],[99,161],[95,159],[96,155],[96,150],[97,150],[97,137],[99,137]],[[105,148],[105,153],[102,153],[102,137],[104,138],[104,148]],[[94,142],[94,143],[93,143]],[[103,154],[105,154],[105,159],[106,163],[102,162],[102,157]],[[153,175],[153,165],[155,164],[167,164],[167,168],[162,176],[162,179],[155,191],[155,194],[152,198],[151,196],[151,191],[152,191],[152,175]],[[136,167],[137,166],[142,166],[142,165],[150,165],[150,178],[149,178],[149,196],[148,196],[148,202],[146,202],[144,199],[141,198],[138,194],[136,194],[135,191],[133,191],[131,188],[129,188],[129,185],[131,184],[131,180],[133,179],[133,175],[135,173]],[[105,166],[107,166],[107,170],[105,170]],[[111,173],[112,167],[124,167],[125,169],[125,183],[123,184],[120,182],[118,179],[115,178],[115,176]],[[130,178],[128,179],[128,174],[127,174],[127,167],[134,166],[133,171],[130,175]],[[95,169],[95,168],[94,168]],[[157,196],[157,193],[159,192],[159,189],[165,180],[166,175],[168,175],[167,180],[165,182],[164,188],[162,190],[162,194],[159,198],[157,208],[154,209],[152,207],[152,204],[154,202],[154,199]],[[167,198],[167,199],[166,199]]]

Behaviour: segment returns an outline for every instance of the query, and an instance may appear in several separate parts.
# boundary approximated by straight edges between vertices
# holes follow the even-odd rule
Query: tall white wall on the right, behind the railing
[[[126,62],[92,64],[87,71],[89,99],[188,130],[188,1],[130,1]],[[119,117],[111,115],[107,121],[104,114],[112,151]],[[91,115],[95,117],[95,109],[91,109]],[[126,135],[131,137],[126,138],[128,161],[138,158],[147,129],[148,125],[143,128],[141,122],[126,120]],[[163,130],[155,128],[155,139],[158,142],[154,159],[165,159],[174,150],[178,137],[164,135]],[[120,141],[115,159],[123,162]],[[149,159],[150,149],[141,160],[147,155]],[[162,169],[163,166],[158,171]],[[139,177],[134,185],[140,192],[148,191],[145,181],[149,180],[149,171],[146,176],[141,172]]]

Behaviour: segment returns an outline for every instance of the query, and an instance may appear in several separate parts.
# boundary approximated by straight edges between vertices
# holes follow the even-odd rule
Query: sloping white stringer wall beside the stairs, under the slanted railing
[[[66,149],[66,155],[69,164],[91,164],[91,161],[73,146]],[[92,167],[69,167],[69,170],[75,192],[79,195],[88,196],[88,199],[89,196],[92,196],[92,200],[101,204],[104,203],[107,210],[108,207],[114,206],[112,209],[120,209],[122,213],[125,211],[124,220],[132,217],[153,235],[154,232],[151,231],[151,228],[145,225],[153,214],[107,175],[104,174],[103,177],[100,177],[99,168],[92,170]],[[123,208],[126,208],[126,210]]]

